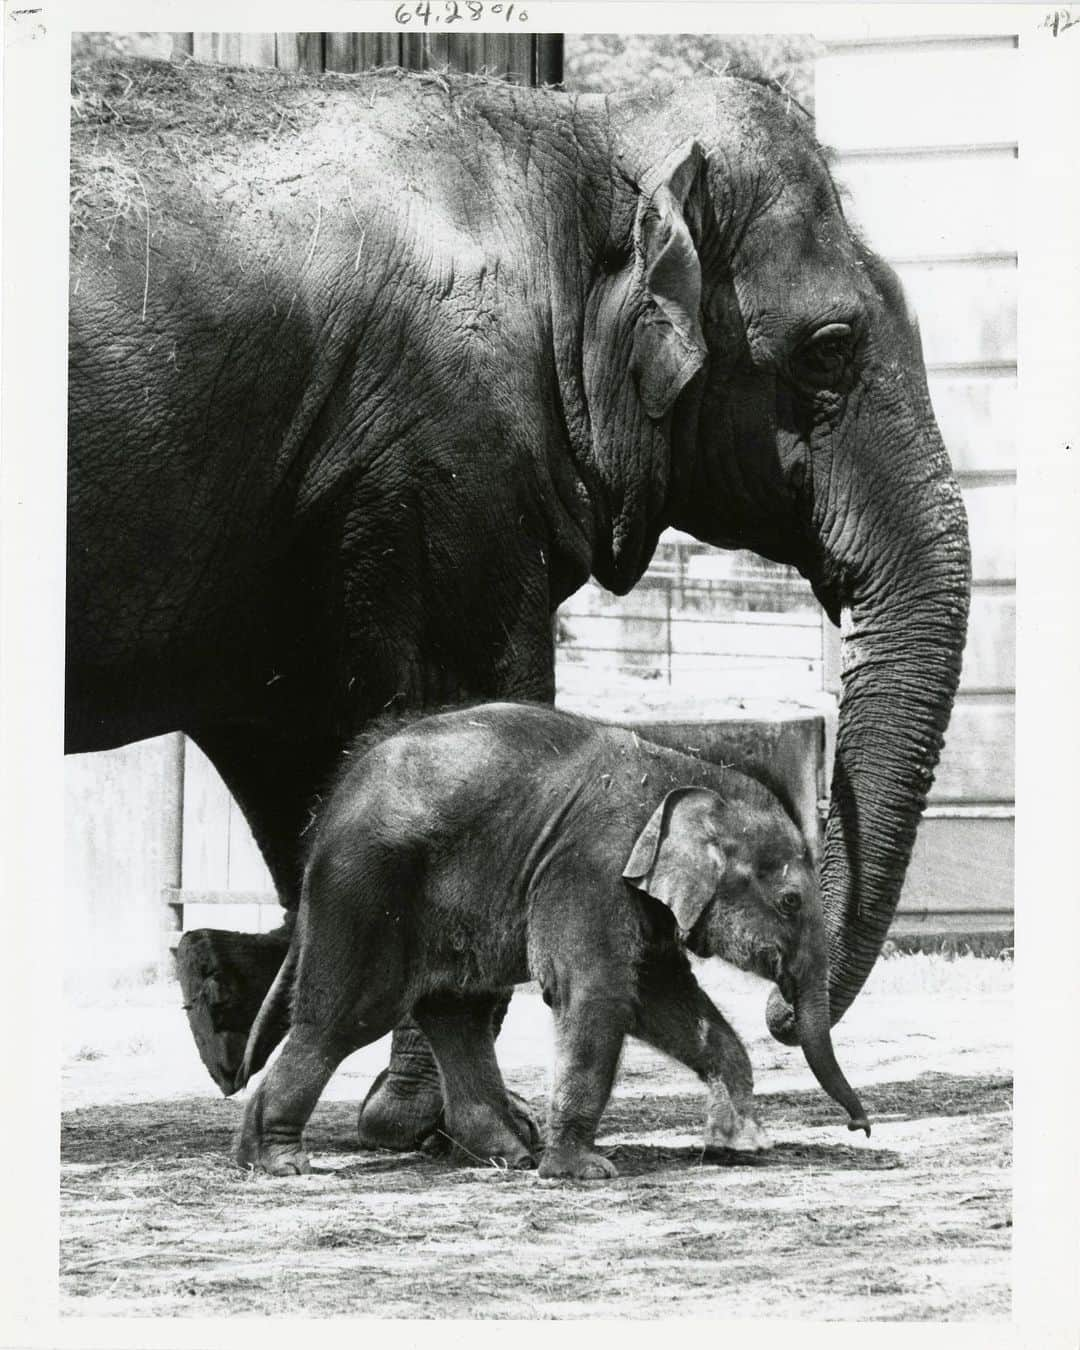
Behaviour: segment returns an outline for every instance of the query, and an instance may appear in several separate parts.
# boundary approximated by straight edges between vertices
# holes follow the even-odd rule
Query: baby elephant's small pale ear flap
[[[703,787],[668,792],[622,868],[630,886],[667,905],[683,933],[698,922],[724,875],[724,852],[710,826],[716,802]]]

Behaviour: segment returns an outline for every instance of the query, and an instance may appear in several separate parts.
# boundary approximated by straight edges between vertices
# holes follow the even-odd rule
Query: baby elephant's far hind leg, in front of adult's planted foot
[[[510,1102],[495,1061],[494,1014],[506,995],[431,995],[414,1017],[435,1052],[443,1088],[437,1126],[463,1160],[502,1160],[526,1168],[539,1152],[540,1134]]]

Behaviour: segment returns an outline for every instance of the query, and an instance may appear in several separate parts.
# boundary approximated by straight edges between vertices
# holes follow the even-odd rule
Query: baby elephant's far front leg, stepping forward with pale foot
[[[633,1035],[679,1060],[707,1087],[706,1149],[771,1149],[772,1141],[757,1120],[747,1049],[694,979],[682,952],[651,956],[639,980]]]

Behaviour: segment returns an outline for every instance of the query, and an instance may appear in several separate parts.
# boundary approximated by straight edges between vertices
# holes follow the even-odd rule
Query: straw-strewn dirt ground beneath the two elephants
[[[169,983],[73,996],[61,1311],[94,1316],[1003,1319],[1010,1311],[1011,964],[879,963],[836,1033],[873,1135],[764,1029],[767,987],[702,983],[748,1044],[775,1149],[705,1157],[703,1094],[630,1042],[601,1127],[620,1176],[358,1153],[385,1046],[347,1061],[308,1134],[317,1173],[230,1161],[223,1100]],[[549,1014],[516,994],[500,1060],[543,1115]]]

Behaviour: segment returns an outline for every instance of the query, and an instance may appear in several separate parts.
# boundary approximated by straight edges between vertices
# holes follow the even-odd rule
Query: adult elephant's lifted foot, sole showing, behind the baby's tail
[[[289,950],[289,932],[196,929],[177,944],[177,979],[188,1025],[209,1076],[231,1096],[247,1033]]]

